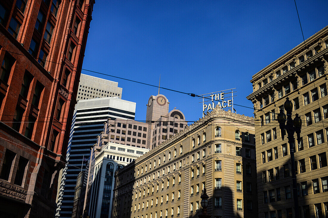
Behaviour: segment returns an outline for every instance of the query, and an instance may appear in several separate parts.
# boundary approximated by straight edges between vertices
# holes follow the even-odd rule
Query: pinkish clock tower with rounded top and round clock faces
[[[151,95],[147,103],[147,112],[146,112],[146,123],[147,127],[147,147],[151,148],[153,142],[153,130],[156,127],[157,121],[161,116],[165,116],[169,113],[169,101],[162,95],[158,94],[156,96]],[[153,122],[151,122],[153,121]]]

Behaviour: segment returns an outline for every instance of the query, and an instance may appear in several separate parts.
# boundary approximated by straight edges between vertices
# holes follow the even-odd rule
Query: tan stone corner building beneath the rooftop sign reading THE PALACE
[[[115,173],[112,217],[257,217],[254,119],[215,108]]]

